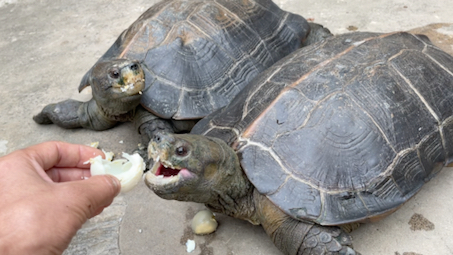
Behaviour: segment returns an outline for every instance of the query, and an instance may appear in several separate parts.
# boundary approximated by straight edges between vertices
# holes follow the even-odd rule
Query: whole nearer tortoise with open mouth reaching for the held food
[[[453,57],[406,32],[335,36],[191,133],[151,140],[157,195],[261,224],[284,254],[357,254],[345,226],[393,212],[453,159]]]

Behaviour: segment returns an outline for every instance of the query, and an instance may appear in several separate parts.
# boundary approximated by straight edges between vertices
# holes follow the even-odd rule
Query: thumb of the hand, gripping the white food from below
[[[96,175],[87,180],[66,182],[70,184],[73,208],[86,219],[96,216],[109,206],[119,194],[121,184],[112,175]]]

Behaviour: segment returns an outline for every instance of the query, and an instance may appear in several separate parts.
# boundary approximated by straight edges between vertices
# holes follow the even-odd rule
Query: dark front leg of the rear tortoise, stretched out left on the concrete
[[[96,101],[80,102],[68,99],[49,104],[33,116],[38,124],[55,124],[62,128],[88,128],[106,130],[116,125],[117,121],[105,116],[98,108]]]

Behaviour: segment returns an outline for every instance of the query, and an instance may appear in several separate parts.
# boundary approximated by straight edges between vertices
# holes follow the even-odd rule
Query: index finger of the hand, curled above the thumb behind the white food
[[[24,151],[44,170],[52,167],[89,168],[90,165],[84,163],[90,158],[98,155],[105,157],[101,150],[90,146],[56,141],[37,144]]]

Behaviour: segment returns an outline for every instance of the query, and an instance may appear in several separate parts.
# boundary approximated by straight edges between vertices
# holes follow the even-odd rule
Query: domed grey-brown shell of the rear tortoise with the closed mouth
[[[198,119],[225,106],[253,77],[298,49],[309,29],[304,18],[270,0],[164,0],[142,14],[99,61],[142,61],[141,104],[162,118]]]

